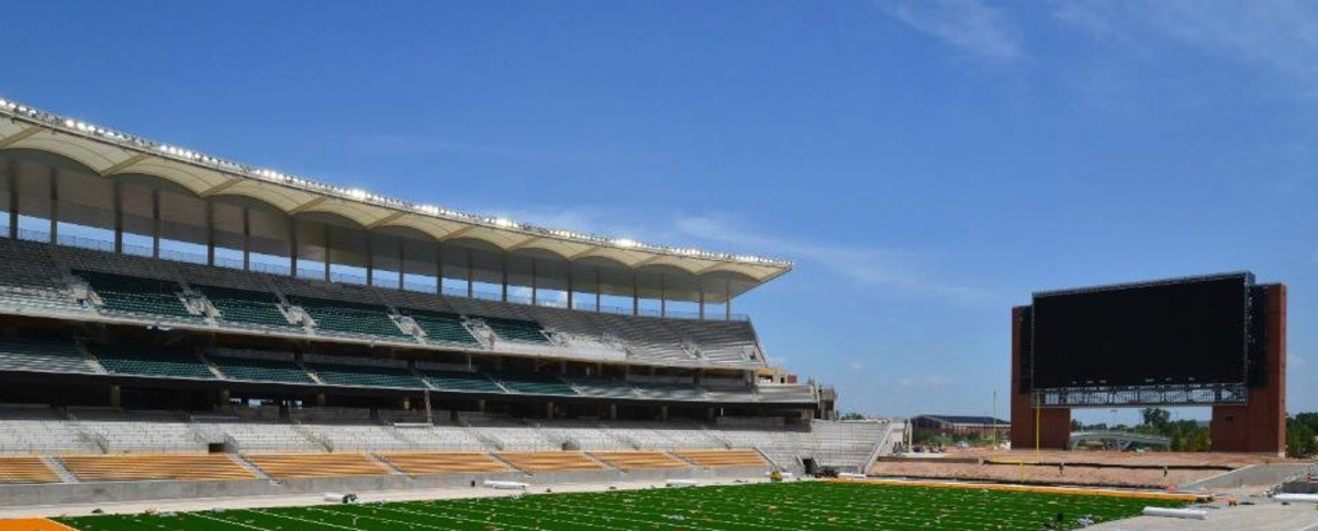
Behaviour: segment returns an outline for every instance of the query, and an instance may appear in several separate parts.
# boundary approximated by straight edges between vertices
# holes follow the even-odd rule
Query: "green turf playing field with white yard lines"
[[[982,489],[793,482],[699,489],[61,518],[82,531],[1011,530],[1078,528],[1170,501]],[[1057,514],[1065,524],[1054,527]]]

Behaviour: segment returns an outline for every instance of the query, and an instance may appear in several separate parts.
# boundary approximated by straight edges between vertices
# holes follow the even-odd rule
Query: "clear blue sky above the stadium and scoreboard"
[[[880,415],[990,412],[1035,290],[1249,269],[1290,286],[1290,410],[1318,410],[1318,4],[366,5],[18,3],[0,94],[386,195],[793,258],[737,310]]]

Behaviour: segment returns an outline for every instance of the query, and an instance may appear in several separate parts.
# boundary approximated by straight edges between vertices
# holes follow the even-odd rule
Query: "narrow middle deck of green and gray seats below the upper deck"
[[[515,373],[488,374],[480,372],[434,370],[409,368],[406,362],[397,366],[381,366],[382,362],[370,358],[344,358],[311,356],[307,364],[298,362],[289,352],[229,350],[217,349],[211,354],[192,354],[169,350],[158,356],[167,361],[156,366],[112,364],[119,361],[120,352],[137,349],[115,345],[109,350],[101,347],[82,347],[71,339],[13,339],[0,337],[0,370],[24,370],[46,373],[121,373],[153,377],[216,378],[235,381],[304,383],[304,385],[344,385],[365,387],[431,389],[457,393],[498,393],[498,394],[543,394],[572,395],[608,399],[648,399],[687,402],[762,402],[788,403],[816,402],[815,390],[809,385],[759,385],[746,386],[717,382],[710,387],[695,383],[658,383],[645,381],[623,381],[604,378],[573,378],[538,373],[518,376]],[[98,358],[98,352],[101,358]],[[149,347],[141,348],[150,354]],[[148,356],[146,360],[152,360]],[[188,370],[190,369],[190,370]],[[332,370],[327,374],[324,370]],[[330,377],[337,379],[330,379]]]

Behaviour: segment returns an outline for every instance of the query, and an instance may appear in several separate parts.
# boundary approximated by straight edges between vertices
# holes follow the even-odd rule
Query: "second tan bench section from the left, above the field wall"
[[[257,476],[224,453],[62,456],[79,481],[254,480]]]

